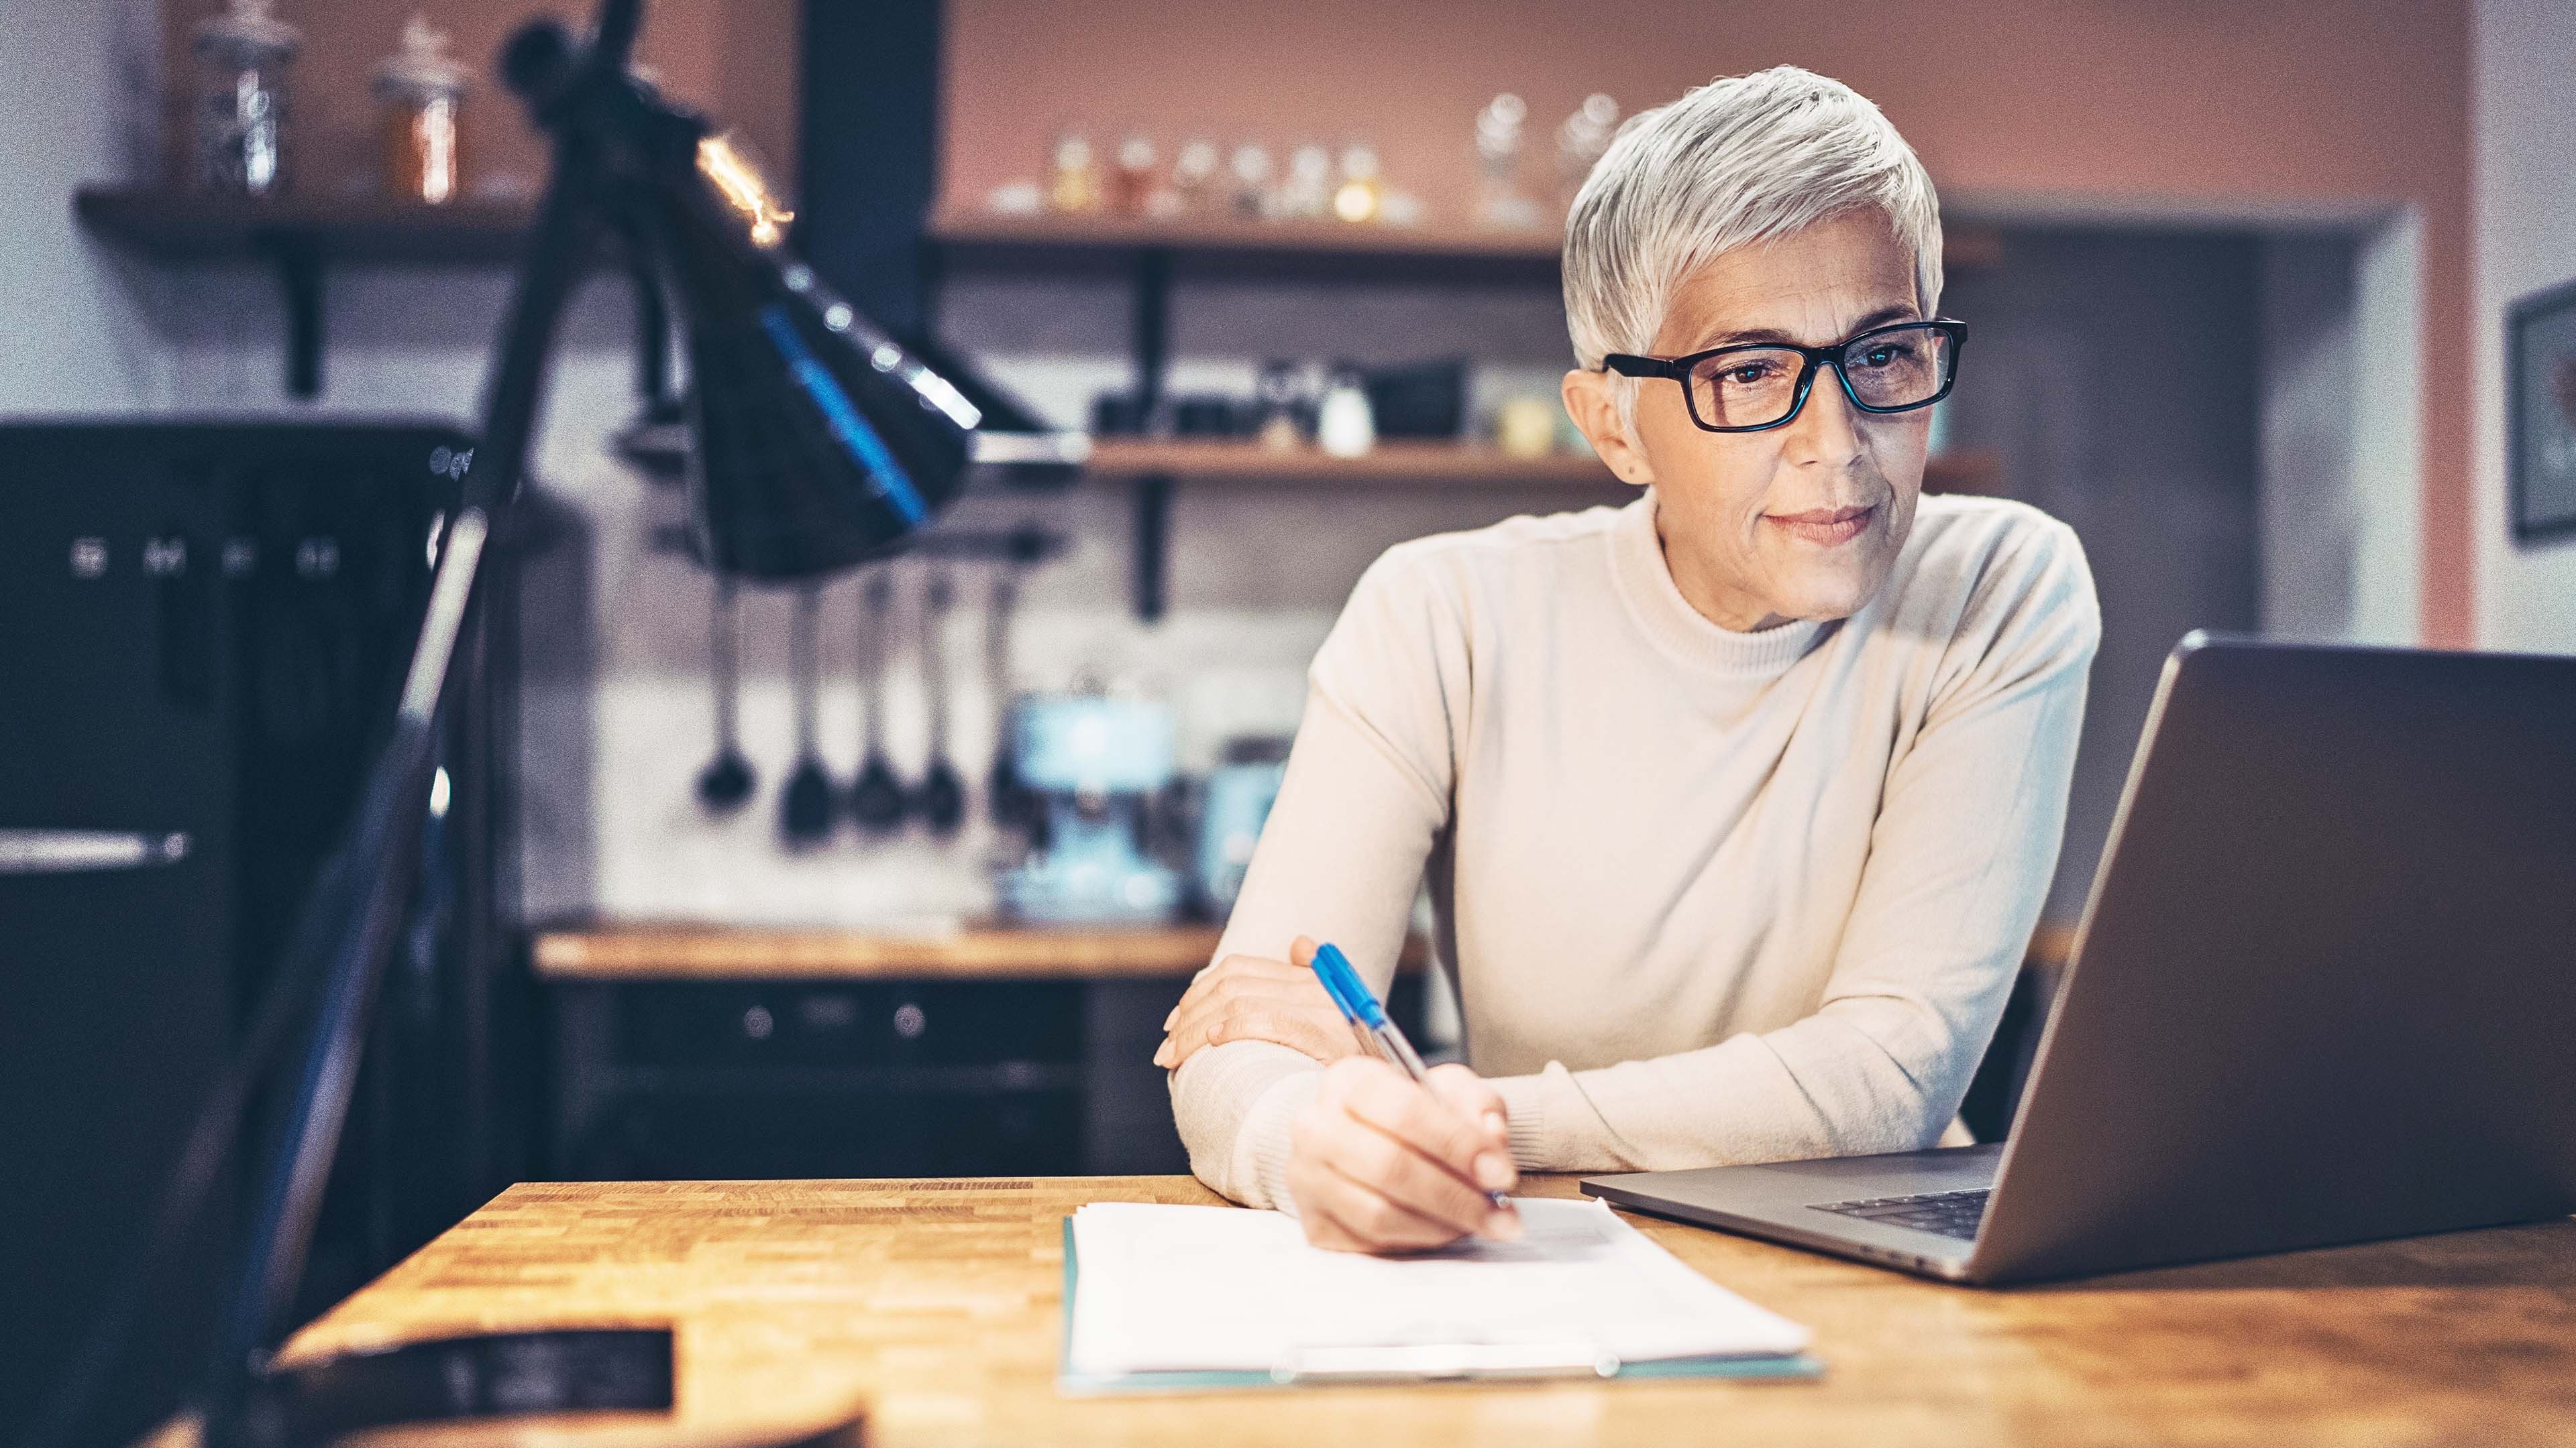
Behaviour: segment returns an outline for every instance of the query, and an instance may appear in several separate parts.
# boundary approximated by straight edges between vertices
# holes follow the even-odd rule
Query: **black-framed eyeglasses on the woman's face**
[[[1911,412],[1950,397],[1968,325],[1950,317],[1870,327],[1826,348],[1736,343],[1687,358],[1610,353],[1602,371],[1669,376],[1682,384],[1690,420],[1708,433],[1783,428],[1806,407],[1816,368],[1834,368],[1842,394],[1862,412]]]

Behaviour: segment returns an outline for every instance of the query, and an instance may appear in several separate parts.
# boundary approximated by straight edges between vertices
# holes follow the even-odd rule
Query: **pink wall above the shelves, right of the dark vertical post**
[[[1955,196],[2421,206],[2424,636],[2468,642],[2458,0],[951,0],[943,183],[951,204],[979,204],[1036,175],[1054,131],[1077,121],[1097,139],[1141,124],[1164,147],[1190,131],[1368,137],[1394,183],[1458,219],[1468,124],[1497,90],[1525,95],[1533,139],[1553,147],[1589,90],[1638,108],[1775,62],[1875,98]]]

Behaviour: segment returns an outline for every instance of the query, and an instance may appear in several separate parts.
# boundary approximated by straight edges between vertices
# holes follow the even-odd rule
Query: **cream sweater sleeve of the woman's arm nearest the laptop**
[[[1716,1046],[1494,1087],[1530,1170],[1677,1170],[1932,1147],[1968,1092],[2066,830],[2102,636],[2058,523],[1996,549],[1888,765],[1814,1015]]]

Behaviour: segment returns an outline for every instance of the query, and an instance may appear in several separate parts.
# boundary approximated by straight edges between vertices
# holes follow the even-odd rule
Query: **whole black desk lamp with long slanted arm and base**
[[[258,1198],[201,1399],[206,1440],[299,1443],[366,1422],[572,1407],[667,1407],[667,1332],[453,1340],[278,1376],[322,1188],[348,1118],[366,1023],[412,894],[438,711],[474,582],[528,459],[556,322],[592,247],[613,237],[659,276],[688,338],[690,533],[726,575],[801,580],[899,551],[963,487],[984,410],[974,379],[925,361],[793,260],[791,216],[708,124],[626,70],[641,0],[603,0],[590,44],[554,21],[510,39],[502,72],[554,173],[520,260],[484,394],[482,441],[438,551],[392,739],[296,917],[245,1049],[201,1113],[155,1242],[111,1299],[28,1443],[80,1443],[149,1286],[204,1208],[268,1067],[296,1046],[289,1110],[258,1159]],[[997,448],[984,448],[994,453]],[[1007,448],[999,448],[1007,451]]]

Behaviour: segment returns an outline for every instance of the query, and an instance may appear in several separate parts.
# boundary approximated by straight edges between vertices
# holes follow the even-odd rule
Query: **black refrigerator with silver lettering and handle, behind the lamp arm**
[[[469,448],[435,423],[0,425],[0,1422],[62,1376],[240,1043],[392,719]],[[466,644],[428,886],[307,1309],[507,1175],[489,868],[505,634]],[[242,1177],[234,1162],[185,1270],[155,1283],[113,1427],[201,1371]]]

